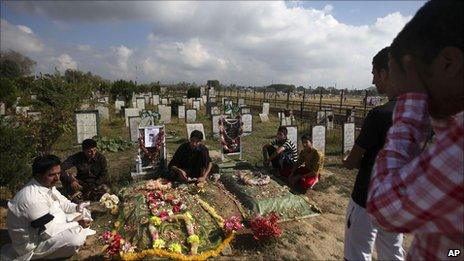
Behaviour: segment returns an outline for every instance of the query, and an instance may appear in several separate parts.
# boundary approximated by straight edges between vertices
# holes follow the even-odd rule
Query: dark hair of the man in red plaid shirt
[[[447,46],[463,50],[463,7],[463,1],[425,3],[393,40],[391,56],[399,62],[410,54],[429,65]]]

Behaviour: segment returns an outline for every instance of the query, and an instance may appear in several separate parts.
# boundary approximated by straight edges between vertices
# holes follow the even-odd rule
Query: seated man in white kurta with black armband
[[[64,258],[77,252],[92,230],[85,203],[76,205],[55,188],[60,160],[53,155],[34,160],[34,178],[8,202],[7,227],[12,244],[2,248],[1,259]],[[90,218],[88,216],[88,218]]]

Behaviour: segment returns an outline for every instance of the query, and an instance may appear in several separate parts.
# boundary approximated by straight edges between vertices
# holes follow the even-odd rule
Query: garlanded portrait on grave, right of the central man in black
[[[241,116],[237,116],[234,119],[227,119],[225,117],[219,119],[219,137],[223,154],[239,153],[241,151],[240,138],[242,133]]]

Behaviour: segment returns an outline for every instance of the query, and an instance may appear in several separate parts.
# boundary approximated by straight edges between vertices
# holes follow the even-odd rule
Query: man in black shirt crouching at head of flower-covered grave
[[[182,182],[197,182],[198,185],[206,182],[211,168],[211,158],[208,148],[202,144],[203,133],[194,130],[190,140],[177,148],[169,162],[169,170],[174,178]]]

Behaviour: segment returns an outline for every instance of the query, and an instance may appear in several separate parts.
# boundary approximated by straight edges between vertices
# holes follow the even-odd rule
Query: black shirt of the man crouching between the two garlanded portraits
[[[176,166],[187,170],[190,178],[198,178],[201,175],[201,169],[206,168],[210,162],[209,151],[205,145],[201,144],[192,149],[189,142],[186,142],[177,148],[169,162],[169,168]]]

